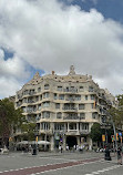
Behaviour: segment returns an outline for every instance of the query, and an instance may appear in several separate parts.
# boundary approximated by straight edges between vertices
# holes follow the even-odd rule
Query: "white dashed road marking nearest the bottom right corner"
[[[109,171],[119,168],[119,167],[121,167],[121,166],[122,166],[122,165],[114,165],[114,166],[110,166],[110,167],[103,168],[102,171],[92,172],[92,173],[85,174],[85,175],[101,174],[101,173],[104,173],[104,172],[109,172]]]

